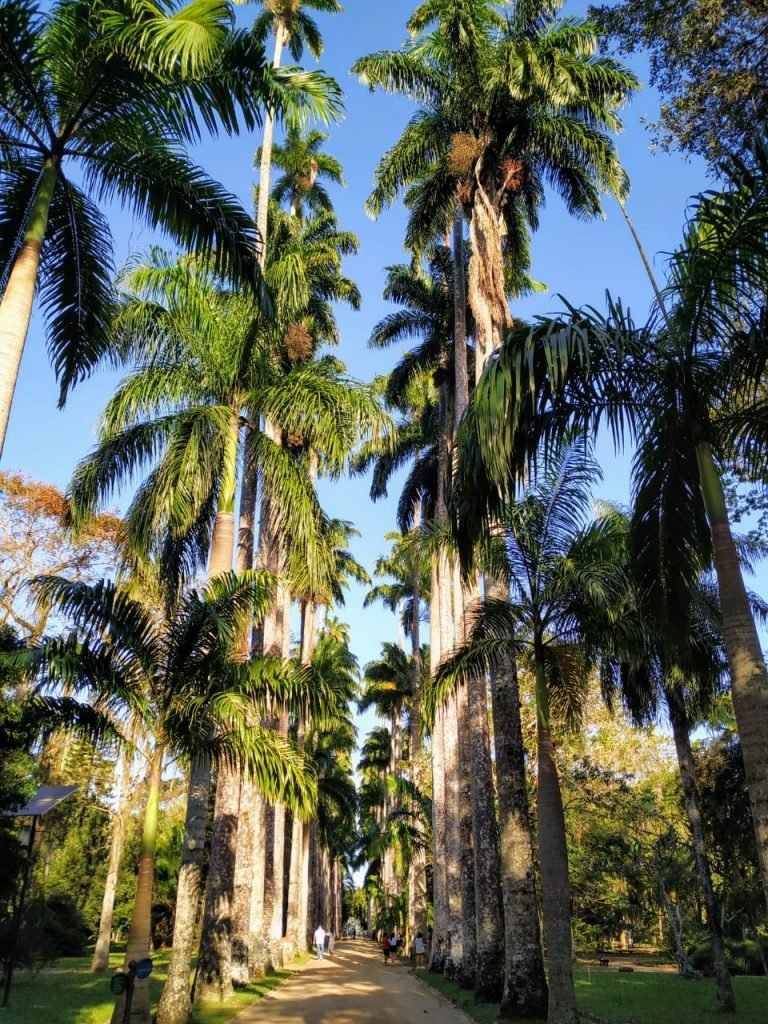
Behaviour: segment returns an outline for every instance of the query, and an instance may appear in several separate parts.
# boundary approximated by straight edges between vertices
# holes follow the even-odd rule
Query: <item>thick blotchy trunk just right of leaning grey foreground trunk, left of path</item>
[[[232,995],[231,913],[239,812],[239,774],[221,765],[216,780],[211,862],[195,983],[195,1000],[200,1002],[224,1002]]]

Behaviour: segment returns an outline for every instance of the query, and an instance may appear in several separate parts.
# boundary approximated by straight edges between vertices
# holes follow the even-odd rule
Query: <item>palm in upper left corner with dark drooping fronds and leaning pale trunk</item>
[[[61,401],[110,350],[112,239],[98,203],[117,200],[253,289],[253,224],[185,146],[202,127],[252,128],[264,102],[332,115],[338,89],[270,74],[230,13],[156,0],[2,5],[0,450],[38,279]]]

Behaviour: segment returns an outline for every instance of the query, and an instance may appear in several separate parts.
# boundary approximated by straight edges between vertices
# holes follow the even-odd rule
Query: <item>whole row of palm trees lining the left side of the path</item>
[[[304,44],[322,52],[307,8],[340,6],[268,0],[252,30],[236,29],[221,2],[61,0],[42,12],[14,0],[1,15],[4,423],[39,278],[62,400],[100,359],[128,368],[75,472],[73,528],[137,484],[119,581],[41,581],[41,600],[58,602],[73,632],[28,663],[43,686],[93,700],[148,757],[126,963],[150,948],[163,772],[188,764],[166,1024],[188,1019],[193,996],[225,999],[233,982],[305,948],[315,918],[341,926],[356,665],[331,621],[317,640],[317,618],[343,602],[348,579],[367,575],[346,548],[350,524],[325,514],[315,482],[341,473],[387,418],[319,354],[338,341],[334,303],[356,306],[359,295],[342,270],[356,240],[323,183],[342,181],[341,168],[322,152],[323,132],[298,127],[334,118],[340,91],[280,67],[286,46],[295,58]],[[280,121],[289,128],[273,146]],[[203,131],[262,123],[254,223],[185,147]],[[284,174],[270,189],[272,163]],[[162,227],[184,254],[154,249],[115,289],[101,200]],[[207,587],[190,590],[205,572]],[[113,853],[119,861],[119,844]],[[109,899],[94,969],[105,966]],[[148,1021],[145,982],[130,1013]]]

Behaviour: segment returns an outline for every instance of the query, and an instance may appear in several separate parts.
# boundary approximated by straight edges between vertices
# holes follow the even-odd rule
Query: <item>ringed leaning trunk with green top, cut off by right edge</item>
[[[699,442],[696,459],[712,532],[733,711],[744,759],[763,894],[768,905],[768,670],[755,629],[711,445]]]

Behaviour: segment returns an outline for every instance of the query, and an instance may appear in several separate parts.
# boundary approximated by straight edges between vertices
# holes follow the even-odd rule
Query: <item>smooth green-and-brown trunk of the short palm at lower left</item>
[[[156,748],[150,761],[150,786],[144,809],[144,823],[141,834],[141,852],[138,858],[136,894],[133,912],[128,929],[125,947],[124,969],[127,972],[131,961],[144,959],[150,955],[152,939],[152,891],[155,882],[155,850],[158,845],[158,819],[160,816],[160,786],[163,775],[162,745]],[[130,1016],[125,1017],[125,995],[115,1000],[112,1024],[150,1024],[150,982],[136,979],[133,987]]]

